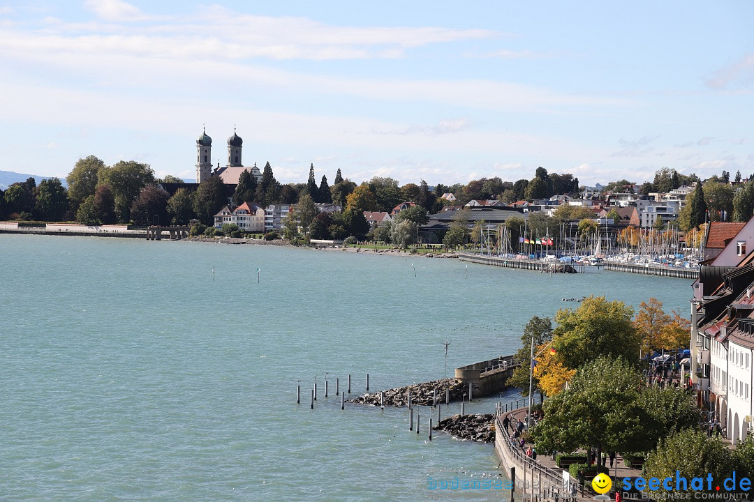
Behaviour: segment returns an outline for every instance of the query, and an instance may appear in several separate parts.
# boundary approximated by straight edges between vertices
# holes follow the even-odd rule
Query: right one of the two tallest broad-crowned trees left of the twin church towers
[[[121,160],[112,167],[105,167],[97,172],[99,184],[109,185],[115,197],[115,213],[118,221],[130,220],[130,209],[141,191],[155,184],[155,172],[149,164],[133,160]]]

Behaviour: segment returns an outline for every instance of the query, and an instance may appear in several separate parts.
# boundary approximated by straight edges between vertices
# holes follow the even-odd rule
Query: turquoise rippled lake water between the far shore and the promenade
[[[449,375],[512,354],[564,297],[691,299],[686,279],[264,245],[0,234],[0,263],[0,500],[434,500],[428,475],[494,473],[492,445],[428,442],[428,408],[418,435],[406,409],[341,410],[336,378],[442,378],[446,339]]]

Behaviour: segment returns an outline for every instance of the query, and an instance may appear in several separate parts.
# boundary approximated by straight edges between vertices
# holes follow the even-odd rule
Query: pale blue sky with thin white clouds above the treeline
[[[754,2],[0,0],[0,169],[278,181],[754,174]]]

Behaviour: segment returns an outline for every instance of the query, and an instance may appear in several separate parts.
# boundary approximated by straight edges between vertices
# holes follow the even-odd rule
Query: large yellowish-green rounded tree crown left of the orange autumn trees
[[[621,301],[591,296],[578,309],[560,309],[555,322],[553,348],[566,367],[578,369],[600,356],[639,362],[633,309]]]

